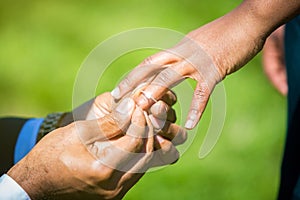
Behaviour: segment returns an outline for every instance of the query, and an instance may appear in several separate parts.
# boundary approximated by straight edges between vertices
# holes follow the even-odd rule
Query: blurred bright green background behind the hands
[[[241,0],[0,1],[0,115],[42,117],[72,109],[76,73],[100,42],[121,31],[163,27],[182,33],[224,15]],[[242,48],[242,47],[241,47]],[[153,51],[118,62],[111,90]],[[88,81],[88,80],[87,80]],[[286,126],[286,99],[263,74],[258,55],[226,78],[227,114],[214,150],[198,159],[210,121],[173,166],[146,174],[125,199],[274,199]]]

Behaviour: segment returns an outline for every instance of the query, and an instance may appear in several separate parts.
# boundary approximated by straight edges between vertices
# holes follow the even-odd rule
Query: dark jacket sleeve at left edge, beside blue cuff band
[[[21,118],[0,118],[0,175],[13,166],[14,148],[26,121]]]

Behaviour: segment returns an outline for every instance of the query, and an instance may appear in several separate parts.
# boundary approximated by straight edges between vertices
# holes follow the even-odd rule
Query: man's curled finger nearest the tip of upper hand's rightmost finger
[[[187,140],[186,129],[168,121],[157,134],[171,141],[174,145],[183,144]]]

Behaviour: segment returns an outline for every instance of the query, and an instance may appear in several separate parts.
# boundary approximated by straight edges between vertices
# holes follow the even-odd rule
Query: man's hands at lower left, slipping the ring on
[[[175,103],[174,96],[165,98]],[[174,119],[167,103],[157,102],[146,113],[131,98],[115,108],[112,100],[110,93],[98,96],[101,117],[49,133],[8,175],[32,199],[121,199],[147,169],[176,162],[179,153],[172,141],[177,137],[181,144],[186,132],[163,131],[173,123],[168,118]],[[155,135],[150,115],[165,116],[162,130],[156,131],[165,136]]]

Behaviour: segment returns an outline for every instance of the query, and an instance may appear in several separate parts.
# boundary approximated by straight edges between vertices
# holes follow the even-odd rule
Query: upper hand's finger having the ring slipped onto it
[[[142,109],[148,109],[155,103],[153,99],[160,99],[169,91],[169,88],[174,87],[179,82],[183,81],[185,77],[181,74],[182,68],[168,67],[161,71],[155,79],[144,89],[143,94],[136,99],[137,104]],[[151,97],[151,98],[149,98]]]

